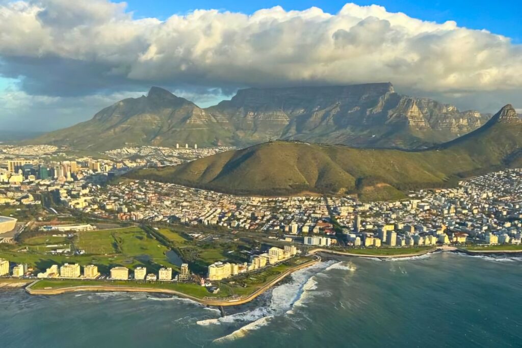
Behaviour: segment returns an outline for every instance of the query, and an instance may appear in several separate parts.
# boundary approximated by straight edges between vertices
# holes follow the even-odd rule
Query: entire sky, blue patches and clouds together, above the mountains
[[[522,2],[0,0],[0,130],[49,131],[161,86],[385,82],[496,112],[522,94]]]

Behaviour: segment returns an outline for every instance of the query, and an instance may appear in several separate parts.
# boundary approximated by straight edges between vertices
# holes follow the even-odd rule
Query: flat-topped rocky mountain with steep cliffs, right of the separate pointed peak
[[[400,95],[391,83],[245,89],[207,111],[229,115],[236,131],[257,141],[282,138],[404,148],[452,140],[490,117]]]

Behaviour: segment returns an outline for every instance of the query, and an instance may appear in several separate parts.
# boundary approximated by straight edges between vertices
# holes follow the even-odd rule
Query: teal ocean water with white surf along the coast
[[[338,258],[219,310],[145,293],[0,292],[0,347],[522,347],[522,258]]]

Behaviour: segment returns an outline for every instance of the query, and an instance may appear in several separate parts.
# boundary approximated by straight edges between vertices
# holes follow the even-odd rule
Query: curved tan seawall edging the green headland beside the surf
[[[81,292],[81,291],[91,291],[91,292],[147,292],[147,293],[163,293],[163,294],[170,294],[170,295],[176,295],[181,298],[187,298],[191,299],[192,301],[198,302],[205,306],[238,306],[242,305],[248,302],[253,301],[255,298],[257,298],[259,295],[266,292],[270,287],[274,286],[284,278],[288,277],[288,275],[292,274],[295,271],[298,271],[303,268],[310,267],[314,265],[315,263],[321,261],[321,257],[314,255],[316,258],[314,260],[310,260],[306,263],[303,263],[302,265],[296,266],[294,268],[291,268],[289,270],[286,270],[279,274],[276,278],[272,279],[256,291],[254,291],[252,294],[247,296],[241,296],[238,298],[232,298],[232,299],[208,299],[208,298],[199,298],[193,295],[185,294],[176,290],[170,290],[170,289],[161,289],[161,288],[154,288],[154,287],[136,287],[136,286],[110,286],[110,285],[80,285],[80,286],[69,286],[69,287],[62,287],[61,289],[32,289],[32,286],[39,282],[39,280],[33,281],[31,284],[26,286],[25,290],[30,295],[58,295],[68,292]]]

